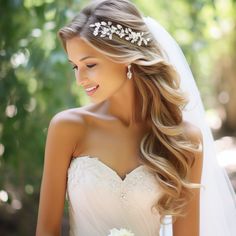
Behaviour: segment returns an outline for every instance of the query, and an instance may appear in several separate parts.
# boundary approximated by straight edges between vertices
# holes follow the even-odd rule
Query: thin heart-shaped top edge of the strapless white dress
[[[133,170],[131,170],[130,172],[126,173],[124,179],[122,179],[122,178],[120,177],[120,175],[119,175],[114,169],[112,169],[110,166],[108,166],[108,165],[106,165],[104,162],[102,162],[102,161],[99,159],[99,157],[97,157],[97,156],[90,156],[90,155],[76,156],[76,157],[73,157],[73,158],[72,158],[71,162],[74,161],[74,160],[76,160],[76,159],[80,159],[80,158],[89,158],[89,159],[94,159],[94,160],[96,160],[97,163],[99,163],[101,166],[105,167],[105,168],[106,168],[107,170],[109,170],[111,173],[115,174],[115,176],[119,179],[119,181],[120,181],[121,183],[126,182],[128,176],[131,176],[132,174],[136,173],[138,170],[141,170],[142,168],[146,168],[146,165],[141,164],[141,165],[135,167],[135,168],[134,168]]]

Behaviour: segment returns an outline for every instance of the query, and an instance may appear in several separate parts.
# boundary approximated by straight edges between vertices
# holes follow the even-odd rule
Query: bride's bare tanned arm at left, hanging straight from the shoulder
[[[56,114],[49,124],[36,236],[61,235],[67,169],[82,135],[83,125],[67,111]]]

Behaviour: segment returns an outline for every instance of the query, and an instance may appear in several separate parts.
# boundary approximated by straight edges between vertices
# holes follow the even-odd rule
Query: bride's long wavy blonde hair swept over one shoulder
[[[94,36],[89,25],[108,20],[144,32],[151,41],[138,46],[115,34],[112,40]],[[61,28],[58,35],[64,48],[66,40],[79,36],[111,60],[132,65],[137,106],[141,107],[141,116],[134,110],[135,120],[151,124],[139,151],[143,163],[154,172],[163,190],[152,207],[158,210],[163,224],[165,215],[172,215],[174,221],[177,216],[184,216],[184,207],[193,196],[191,189],[200,186],[187,178],[199,146],[184,135],[182,108],[188,98],[180,90],[178,73],[164,60],[160,45],[153,39],[139,10],[128,0],[93,1]]]

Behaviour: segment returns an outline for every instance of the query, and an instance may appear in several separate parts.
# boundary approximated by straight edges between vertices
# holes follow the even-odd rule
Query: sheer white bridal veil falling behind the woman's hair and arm
[[[174,38],[151,17],[143,17],[153,38],[161,46],[166,59],[181,78],[181,89],[190,95],[183,118],[197,125],[203,134],[204,161],[200,194],[200,236],[236,235],[236,197],[228,178],[216,158],[214,139],[205,120],[204,106],[185,56]],[[166,222],[172,222],[166,217]],[[160,236],[172,236],[172,224],[161,225]]]

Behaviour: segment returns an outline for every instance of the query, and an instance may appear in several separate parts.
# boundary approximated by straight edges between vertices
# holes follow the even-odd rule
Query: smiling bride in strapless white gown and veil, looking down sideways
[[[95,0],[58,35],[91,104],[50,121],[36,236],[60,235],[65,200],[71,236],[236,235],[232,186],[165,29],[128,0]]]

